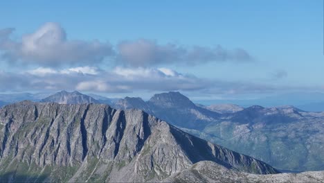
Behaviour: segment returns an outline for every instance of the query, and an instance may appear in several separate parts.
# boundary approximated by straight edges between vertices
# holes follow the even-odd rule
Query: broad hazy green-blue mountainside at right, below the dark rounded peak
[[[282,170],[324,170],[324,117],[295,107],[248,107],[204,130],[182,129]]]

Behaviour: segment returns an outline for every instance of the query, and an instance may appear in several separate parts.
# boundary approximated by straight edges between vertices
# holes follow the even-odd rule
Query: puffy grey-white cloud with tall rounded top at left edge
[[[0,30],[0,37],[8,38],[12,31]],[[7,60],[43,66],[96,64],[114,53],[109,43],[68,40],[65,30],[53,22],[23,35],[21,41],[2,39],[0,49]]]

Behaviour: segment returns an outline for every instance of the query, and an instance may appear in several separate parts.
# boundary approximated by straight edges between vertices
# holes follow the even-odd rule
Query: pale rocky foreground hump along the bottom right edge
[[[163,182],[324,182],[324,171],[255,175],[229,170],[214,162],[198,162]]]

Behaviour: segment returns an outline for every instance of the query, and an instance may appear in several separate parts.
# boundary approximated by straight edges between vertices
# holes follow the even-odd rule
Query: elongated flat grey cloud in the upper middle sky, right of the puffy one
[[[132,67],[148,67],[160,64],[196,65],[206,62],[251,61],[244,49],[226,50],[222,46],[181,46],[158,44],[152,40],[120,42],[117,46],[118,62]]]

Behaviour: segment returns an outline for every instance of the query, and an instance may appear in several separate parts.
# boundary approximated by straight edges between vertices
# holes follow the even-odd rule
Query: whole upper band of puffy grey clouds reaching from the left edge
[[[122,41],[116,46],[98,40],[69,40],[60,24],[48,22],[34,33],[12,40],[15,28],[0,30],[2,60],[42,67],[98,65],[152,67],[165,64],[194,66],[206,62],[246,62],[253,58],[244,49],[222,46],[183,46],[158,44],[154,40]]]

